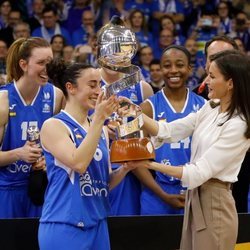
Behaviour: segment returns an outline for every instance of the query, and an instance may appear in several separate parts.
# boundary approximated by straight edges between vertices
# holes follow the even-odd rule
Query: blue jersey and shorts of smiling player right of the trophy
[[[153,119],[156,121],[171,122],[187,116],[191,112],[198,111],[205,103],[205,99],[187,90],[187,99],[180,113],[177,113],[163,89],[148,99],[152,110]],[[179,166],[190,161],[191,137],[187,137],[177,143],[165,143],[155,150],[155,161],[166,165]],[[167,174],[156,171],[155,181],[169,194],[180,194],[184,188],[180,180],[168,176]],[[144,188],[141,195],[141,214],[180,214],[183,209],[175,209],[163,202],[148,188]]]

